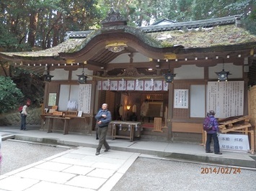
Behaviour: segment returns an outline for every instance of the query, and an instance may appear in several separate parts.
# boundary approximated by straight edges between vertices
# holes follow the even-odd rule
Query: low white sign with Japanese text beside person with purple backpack
[[[244,134],[220,134],[219,148],[221,150],[250,151],[248,136]]]

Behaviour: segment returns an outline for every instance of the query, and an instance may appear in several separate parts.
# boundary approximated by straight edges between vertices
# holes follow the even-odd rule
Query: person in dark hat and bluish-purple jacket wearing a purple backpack
[[[209,111],[209,113],[207,113],[207,116],[210,116],[213,128],[210,131],[207,131],[206,153],[212,153],[211,139],[213,139],[214,154],[222,154],[219,151],[219,139],[218,139],[219,123],[218,123],[217,119],[215,118],[215,112],[213,110],[211,110],[211,111]]]

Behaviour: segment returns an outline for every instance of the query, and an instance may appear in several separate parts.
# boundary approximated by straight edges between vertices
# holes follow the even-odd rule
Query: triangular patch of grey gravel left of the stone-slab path
[[[38,162],[69,149],[63,146],[49,146],[44,144],[28,143],[23,141],[2,141],[1,174],[11,172],[14,169],[25,167],[28,164]]]

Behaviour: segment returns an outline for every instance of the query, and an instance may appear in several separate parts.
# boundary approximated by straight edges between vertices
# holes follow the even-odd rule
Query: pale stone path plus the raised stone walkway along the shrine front
[[[1,190],[111,190],[137,157],[167,157],[193,162],[224,164],[256,168],[255,155],[246,152],[223,152],[222,155],[206,154],[199,144],[172,143],[164,141],[144,141],[128,139],[107,141],[110,152],[102,149],[95,156],[98,140],[94,135],[47,133],[38,126],[27,126],[27,131],[19,127],[0,126],[3,139],[36,141],[46,144],[78,146],[40,162],[22,167],[0,177]]]

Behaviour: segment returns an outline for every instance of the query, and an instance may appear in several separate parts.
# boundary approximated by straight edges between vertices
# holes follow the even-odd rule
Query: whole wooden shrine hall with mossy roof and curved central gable
[[[241,17],[163,19],[131,27],[111,10],[100,29],[66,32],[56,47],[0,52],[0,59],[44,73],[45,131],[45,117],[58,111],[58,117],[71,119],[54,121],[49,131],[63,131],[66,123],[66,133],[91,134],[95,114],[107,103],[113,121],[128,123],[116,124],[115,134],[110,130],[113,139],[125,134],[128,139],[202,142],[207,111],[216,111],[218,118],[248,115],[256,36],[242,27]],[[67,111],[74,113],[66,116]]]

